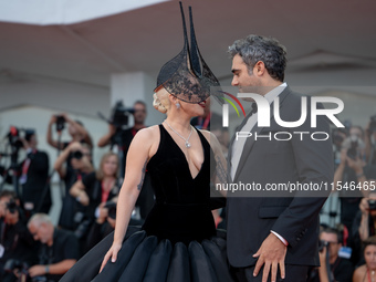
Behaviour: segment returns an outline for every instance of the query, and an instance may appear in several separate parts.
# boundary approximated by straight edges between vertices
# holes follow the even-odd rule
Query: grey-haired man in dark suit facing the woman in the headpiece
[[[301,95],[283,83],[285,48],[275,39],[249,35],[236,41],[229,53],[232,85],[238,86],[240,93],[262,95],[271,106],[269,127],[258,126],[257,108],[244,125],[238,127],[237,130],[252,133],[252,136],[238,136],[230,144],[232,182],[254,182],[262,189],[273,184],[331,184],[331,137],[327,135],[326,140],[311,137],[314,132],[330,133],[327,119],[317,116],[316,127],[311,126],[309,97],[306,121],[297,127],[281,126],[273,114],[275,97],[279,97],[276,106],[282,121],[299,121],[302,112]],[[284,134],[275,135],[281,132]],[[303,137],[293,132],[305,134]],[[255,135],[270,138],[255,138]],[[279,140],[282,138],[286,140]],[[305,281],[309,267],[318,265],[318,212],[328,192],[229,194],[228,257],[238,281]]]

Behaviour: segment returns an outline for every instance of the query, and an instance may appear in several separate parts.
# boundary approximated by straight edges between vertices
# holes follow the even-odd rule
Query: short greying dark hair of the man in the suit
[[[231,59],[239,54],[249,72],[252,72],[257,62],[263,62],[269,75],[283,82],[288,61],[286,48],[276,39],[251,34],[234,41],[228,52]]]

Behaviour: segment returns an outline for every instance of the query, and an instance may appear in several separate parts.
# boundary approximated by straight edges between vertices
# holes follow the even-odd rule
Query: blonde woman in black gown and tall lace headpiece
[[[216,137],[190,125],[191,117],[203,114],[218,81],[198,51],[192,25],[189,53],[185,20],[184,31],[185,46],[161,67],[154,94],[154,106],[167,118],[139,130],[130,144],[115,232],[61,281],[231,281],[224,236],[211,215],[219,206],[209,188],[215,168],[226,161]],[[156,202],[142,228],[128,227],[146,169]]]

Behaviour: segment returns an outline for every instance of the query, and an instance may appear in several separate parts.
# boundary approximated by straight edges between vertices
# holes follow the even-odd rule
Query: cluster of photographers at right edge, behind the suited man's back
[[[341,223],[322,226],[321,267],[309,281],[376,281],[376,116],[365,127],[346,122],[332,138],[340,215],[330,216]]]

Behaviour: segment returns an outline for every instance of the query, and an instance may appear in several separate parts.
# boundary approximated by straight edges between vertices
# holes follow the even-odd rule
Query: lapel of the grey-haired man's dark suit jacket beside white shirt
[[[285,100],[285,97],[289,95],[290,92],[291,92],[290,87],[286,86],[285,90],[279,95],[279,97],[280,97],[280,108],[282,106],[283,101]],[[274,117],[273,104],[274,104],[274,102],[270,105],[270,121],[272,121],[273,117]],[[263,128],[264,127],[258,127],[258,123],[253,126],[252,137],[248,138],[248,140],[244,144],[244,147],[243,147],[243,150],[241,153],[241,157],[240,157],[240,160],[239,160],[239,165],[237,167],[237,171],[236,171],[233,181],[236,179],[238,179],[239,174],[242,170],[242,168],[244,167],[244,164],[246,164],[246,161],[249,157],[249,154],[251,153],[251,150],[253,148],[253,145],[254,145],[254,142],[255,142],[254,140],[255,133],[259,135]],[[232,148],[232,144],[231,144],[231,148]]]

